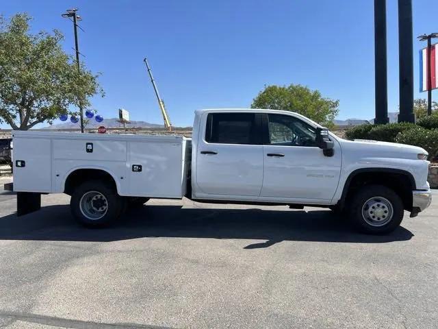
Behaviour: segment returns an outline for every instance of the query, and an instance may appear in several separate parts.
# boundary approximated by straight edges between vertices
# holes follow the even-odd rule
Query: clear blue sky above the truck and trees
[[[339,99],[339,119],[374,117],[374,1],[1,1],[0,13],[28,12],[34,32],[60,29],[73,53],[73,27],[60,14],[79,8],[79,47],[101,72],[104,117],[162,123],[143,64],[147,56],[170,119],[191,125],[198,108],[248,107],[265,84],[305,84]],[[389,112],[398,110],[397,1],[387,0]],[[414,0],[414,36],[438,32],[438,1]],[[415,97],[418,50],[414,42]],[[435,99],[438,93],[434,93]]]

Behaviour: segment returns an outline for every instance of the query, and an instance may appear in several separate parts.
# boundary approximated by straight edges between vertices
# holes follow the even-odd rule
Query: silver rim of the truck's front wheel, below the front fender
[[[362,217],[370,226],[384,226],[391,221],[394,208],[385,197],[372,197],[362,206]]]

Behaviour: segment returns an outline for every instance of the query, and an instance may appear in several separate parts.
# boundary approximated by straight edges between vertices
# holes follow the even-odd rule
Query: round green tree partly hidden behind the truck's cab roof
[[[339,112],[339,100],[322,97],[318,90],[300,84],[266,86],[253,99],[251,108],[297,112],[322,125],[333,126]]]

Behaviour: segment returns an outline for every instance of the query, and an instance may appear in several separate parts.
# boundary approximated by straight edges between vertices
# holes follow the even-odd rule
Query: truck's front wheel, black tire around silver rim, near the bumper
[[[350,221],[360,232],[367,234],[394,231],[404,215],[400,196],[382,185],[363,186],[351,197],[349,204]]]

